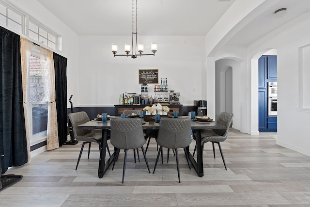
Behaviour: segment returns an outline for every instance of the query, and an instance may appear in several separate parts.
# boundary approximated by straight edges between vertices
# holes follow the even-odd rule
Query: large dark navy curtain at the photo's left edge
[[[28,161],[20,37],[0,27],[0,154],[2,173]]]

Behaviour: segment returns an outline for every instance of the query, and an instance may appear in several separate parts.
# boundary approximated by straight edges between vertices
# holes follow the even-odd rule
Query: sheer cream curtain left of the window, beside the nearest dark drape
[[[22,73],[22,87],[23,87],[23,106],[24,106],[24,115],[25,115],[28,162],[30,162],[31,155],[30,155],[30,134],[29,134],[27,108],[26,108],[26,94],[27,94],[27,76],[28,76],[28,71],[29,71],[29,59],[31,56],[31,45],[32,45],[31,41],[20,36],[20,56],[21,56],[21,73]]]

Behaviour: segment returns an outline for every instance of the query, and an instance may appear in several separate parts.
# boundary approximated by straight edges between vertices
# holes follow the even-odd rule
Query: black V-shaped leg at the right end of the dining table
[[[202,163],[202,136],[201,136],[201,130],[196,129],[196,148],[197,148],[197,162],[193,158],[193,155],[189,152],[189,146],[186,147],[186,152],[188,155],[189,161],[192,163],[194,169],[196,170],[196,173],[198,176],[203,176],[203,163]]]

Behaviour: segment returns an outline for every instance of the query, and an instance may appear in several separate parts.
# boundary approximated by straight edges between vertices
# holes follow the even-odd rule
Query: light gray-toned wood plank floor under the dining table
[[[124,152],[115,169],[99,179],[97,144],[92,144],[90,159],[86,146],[77,171],[81,143],[62,146],[35,156],[30,164],[9,169],[6,174],[23,178],[0,191],[0,207],[309,207],[310,157],[276,145],[276,138],[276,133],[251,136],[230,129],[222,143],[227,171],[217,145],[214,159],[212,144],[206,143],[203,177],[189,170],[179,150],[181,183],[175,157],[171,152],[167,163],[166,149],[166,161],[152,173],[155,139],[147,152],[151,174],[141,152],[140,162],[134,163],[129,151],[124,184]]]

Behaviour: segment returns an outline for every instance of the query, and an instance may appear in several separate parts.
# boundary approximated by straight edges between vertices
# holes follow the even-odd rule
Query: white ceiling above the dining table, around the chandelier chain
[[[138,34],[205,35],[233,1],[138,0]],[[78,35],[131,35],[132,0],[38,2]]]

